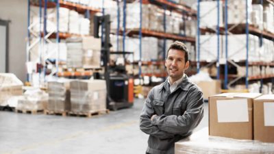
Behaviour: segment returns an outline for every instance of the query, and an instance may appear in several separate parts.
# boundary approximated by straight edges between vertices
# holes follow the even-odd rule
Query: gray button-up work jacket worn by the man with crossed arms
[[[153,87],[140,114],[140,129],[150,135],[147,153],[174,153],[175,142],[190,136],[202,118],[203,93],[186,75],[172,93],[167,79]]]

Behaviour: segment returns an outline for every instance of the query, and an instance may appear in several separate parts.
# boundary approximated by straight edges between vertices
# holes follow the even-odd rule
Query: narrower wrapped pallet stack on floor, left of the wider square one
[[[70,81],[49,81],[49,103],[47,110],[53,112],[66,112],[71,110],[71,93],[69,91]]]

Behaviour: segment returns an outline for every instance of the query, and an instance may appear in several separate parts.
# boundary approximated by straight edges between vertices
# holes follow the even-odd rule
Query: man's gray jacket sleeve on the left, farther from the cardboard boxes
[[[151,136],[155,136],[160,139],[173,138],[172,133],[162,131],[157,125],[151,124],[151,116],[155,114],[153,110],[153,89],[149,92],[148,97],[145,101],[145,105],[142,108],[142,113],[140,114],[140,130]]]

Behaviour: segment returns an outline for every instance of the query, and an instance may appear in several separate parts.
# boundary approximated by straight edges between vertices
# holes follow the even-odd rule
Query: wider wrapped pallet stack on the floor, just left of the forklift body
[[[105,80],[71,81],[72,112],[98,112],[105,109]]]

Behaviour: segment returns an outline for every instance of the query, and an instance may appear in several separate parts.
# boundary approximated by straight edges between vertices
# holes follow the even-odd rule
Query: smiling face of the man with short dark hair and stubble
[[[185,62],[184,52],[177,49],[170,49],[167,55],[165,66],[169,79],[177,81],[184,75],[184,70],[188,69],[189,62]]]

